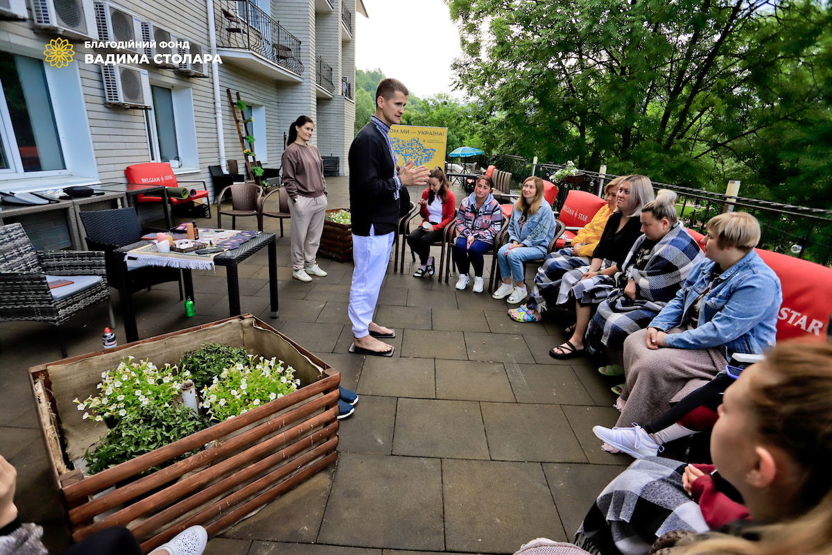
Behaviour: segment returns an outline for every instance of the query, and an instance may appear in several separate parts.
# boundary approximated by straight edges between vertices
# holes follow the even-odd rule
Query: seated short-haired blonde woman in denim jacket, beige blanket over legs
[[[617,426],[646,424],[711,381],[734,353],[775,344],[780,279],[754,247],[760,224],[745,212],[715,216],[703,243],[709,260],[691,270],[646,330],[624,342],[624,385]]]

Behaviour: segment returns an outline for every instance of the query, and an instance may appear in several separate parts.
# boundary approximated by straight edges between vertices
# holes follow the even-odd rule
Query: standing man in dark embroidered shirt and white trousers
[[[349,288],[349,320],[354,343],[350,353],[392,356],[393,345],[379,337],[396,332],[373,321],[379,289],[399,225],[399,190],[423,186],[428,168],[408,162],[396,174],[396,154],[390,127],[402,120],[408,89],[395,79],[384,79],[375,91],[375,115],[349,146],[349,211],[353,223],[353,282]]]

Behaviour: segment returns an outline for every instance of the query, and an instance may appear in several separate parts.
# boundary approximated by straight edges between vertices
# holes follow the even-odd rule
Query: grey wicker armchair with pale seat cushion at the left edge
[[[0,226],[0,322],[35,320],[54,325],[64,358],[67,346],[61,325],[87,306],[110,300],[105,275],[101,252],[36,251],[22,225]],[[50,290],[52,276],[73,283]],[[116,327],[112,311],[110,325]]]

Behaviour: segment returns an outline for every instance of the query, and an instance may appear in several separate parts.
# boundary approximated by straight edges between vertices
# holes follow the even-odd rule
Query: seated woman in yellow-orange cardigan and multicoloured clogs
[[[585,225],[572,239],[572,245],[547,255],[543,265],[537,269],[534,276],[532,298],[522,306],[508,311],[512,320],[518,322],[539,322],[543,319],[542,312],[546,310],[547,297],[552,300],[557,297],[561,278],[569,270],[588,266],[592,252],[601,240],[601,234],[607,225],[607,220],[616,209],[616,195],[618,186],[624,177],[616,177],[604,188],[607,205],[597,211],[595,217]]]

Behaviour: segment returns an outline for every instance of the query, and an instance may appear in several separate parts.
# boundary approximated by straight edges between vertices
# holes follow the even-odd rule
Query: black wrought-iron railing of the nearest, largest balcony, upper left
[[[257,52],[290,72],[302,73],[300,41],[249,0],[214,2],[217,46]]]

